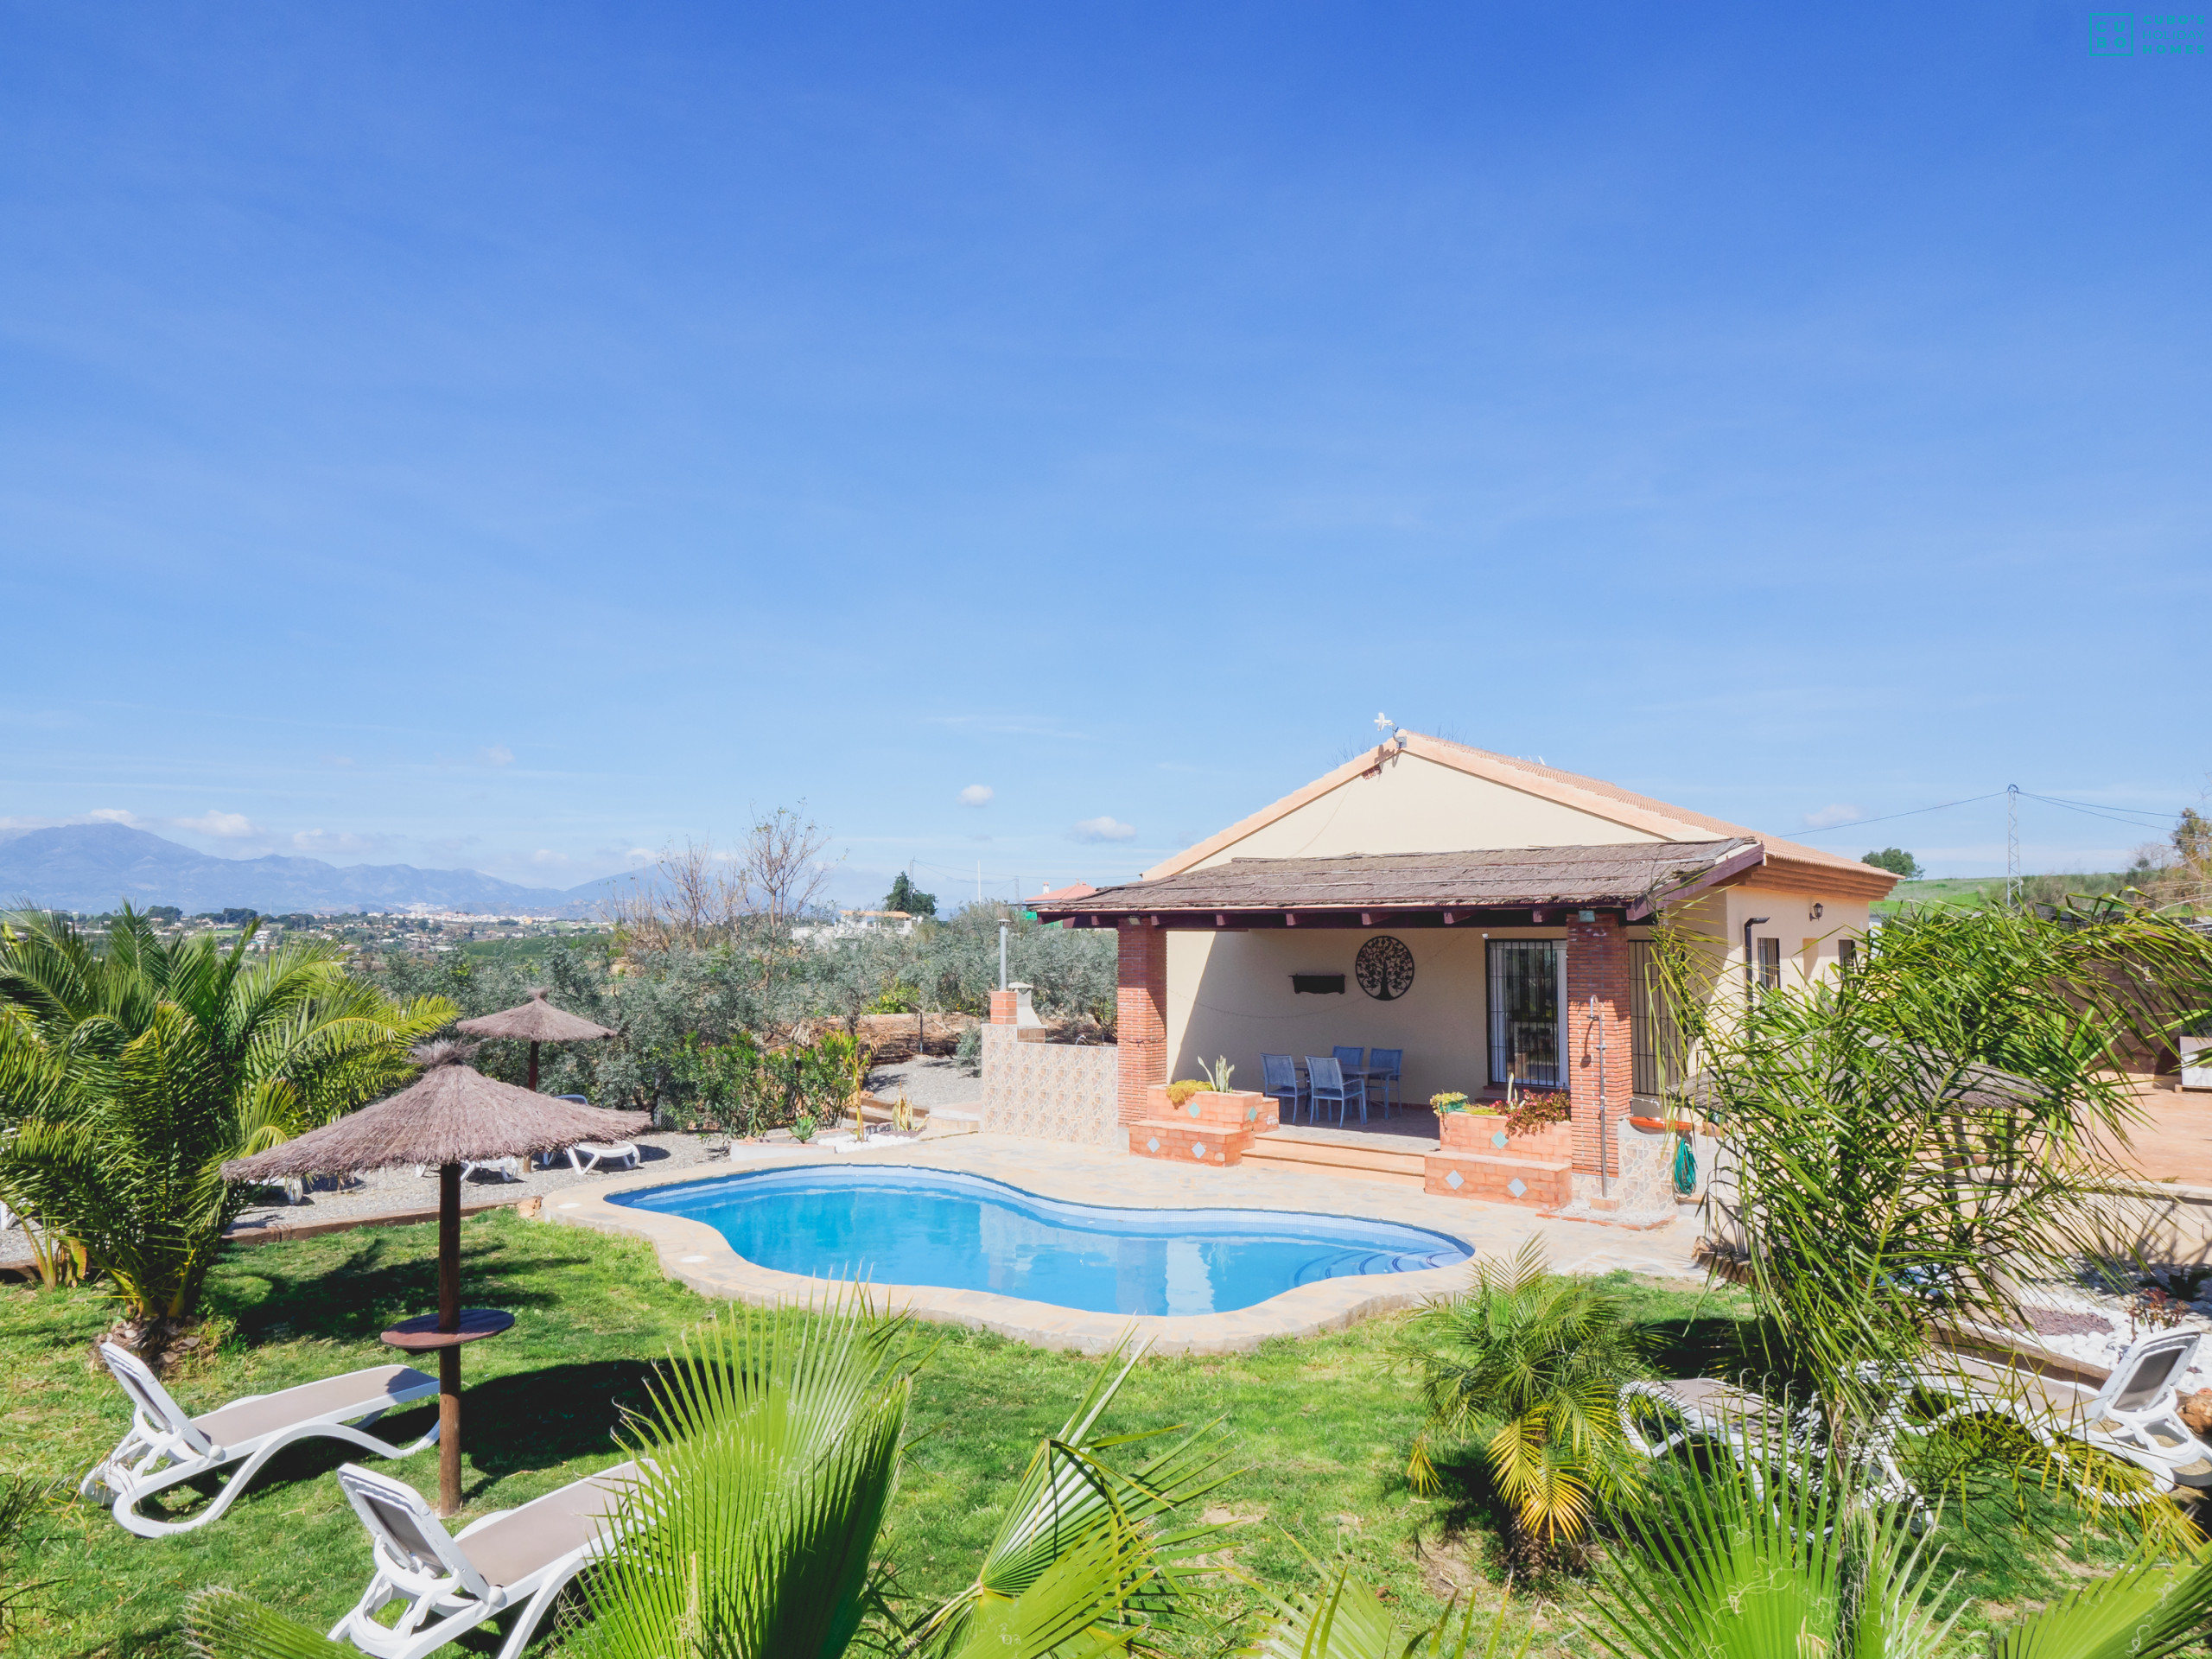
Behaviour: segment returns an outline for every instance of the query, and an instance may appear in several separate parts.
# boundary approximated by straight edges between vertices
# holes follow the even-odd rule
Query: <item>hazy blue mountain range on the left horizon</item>
[[[465,909],[535,916],[595,914],[611,883],[562,891],[520,887],[476,869],[327,865],[321,858],[215,858],[119,823],[22,830],[0,841],[0,905],[108,911],[179,905],[184,911],[252,907],[285,911]]]

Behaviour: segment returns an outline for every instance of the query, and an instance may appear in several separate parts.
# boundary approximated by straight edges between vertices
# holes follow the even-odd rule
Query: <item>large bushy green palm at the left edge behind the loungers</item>
[[[104,947],[58,916],[0,927],[0,1201],[157,1334],[192,1314],[246,1203],[223,1159],[383,1093],[453,1018],[347,978],[334,945],[254,956],[254,931],[166,942],[131,907]]]

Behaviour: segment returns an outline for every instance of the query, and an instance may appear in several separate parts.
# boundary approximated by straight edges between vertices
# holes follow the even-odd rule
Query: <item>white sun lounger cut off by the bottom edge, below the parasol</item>
[[[635,1462],[615,1464],[453,1535],[414,1486],[343,1464],[338,1484],[369,1528],[376,1575],[330,1639],[352,1641],[374,1659],[425,1659],[520,1606],[498,1655],[518,1659],[562,1588],[613,1540],[635,1475]],[[398,1619],[380,1621],[376,1615],[394,1601],[405,1604]]]

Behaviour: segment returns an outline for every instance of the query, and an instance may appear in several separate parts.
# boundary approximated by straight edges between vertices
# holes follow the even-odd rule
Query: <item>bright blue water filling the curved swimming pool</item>
[[[611,1192],[814,1279],[995,1290],[1093,1314],[1228,1314],[1292,1285],[1449,1267],[1458,1239],[1294,1210],[1110,1210],[945,1170],[810,1164]]]

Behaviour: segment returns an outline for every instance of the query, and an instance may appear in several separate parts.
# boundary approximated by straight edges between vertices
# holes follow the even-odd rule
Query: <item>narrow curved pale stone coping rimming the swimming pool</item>
[[[803,1274],[776,1272],[739,1256],[730,1243],[703,1221],[664,1214],[657,1210],[635,1210],[608,1203],[615,1192],[639,1188],[690,1186],[710,1181],[743,1168],[785,1168],[792,1164],[834,1164],[841,1157],[867,1157],[869,1164],[896,1164],[905,1168],[947,1170],[951,1175],[973,1175],[962,1168],[962,1159],[936,1157],[927,1141],[896,1148],[872,1148],[867,1152],[776,1152],[745,1164],[717,1164],[686,1170],[670,1179],[653,1170],[637,1170],[611,1181],[595,1181],[584,1188],[553,1192],[540,1212],[546,1221],[573,1228],[591,1228],[626,1239],[644,1239],[653,1245],[661,1272],[679,1285],[697,1290],[701,1296],[723,1296],[759,1305],[818,1301],[830,1285]],[[1068,1190],[1077,1181],[1060,1170],[1033,1170],[1022,1188],[1048,1199],[1097,1203],[1095,1188]],[[1088,1186],[1088,1183],[1082,1183]],[[1179,1199],[1188,1208],[1239,1210],[1252,1208],[1252,1197],[1223,1194],[1221,1201]],[[1279,1206],[1310,1208],[1310,1206]],[[1420,1225],[1444,1232],[1469,1250],[1480,1243],[1467,1232],[1425,1219]],[[1033,1303],[1020,1296],[1000,1296],[987,1290],[942,1290],[938,1285],[872,1285],[872,1294],[887,1307],[909,1310],[916,1318],[940,1325],[964,1325],[969,1329],[1011,1336],[1031,1347],[1075,1349],[1082,1354],[1104,1354],[1130,1329],[1152,1338],[1152,1354],[1245,1354],[1276,1336],[1318,1336],[1343,1329],[1374,1314],[1398,1307],[1413,1307],[1429,1296],[1458,1290],[1467,1283],[1469,1263],[1449,1267],[1425,1267],[1409,1274],[1363,1274],[1354,1279],[1323,1279],[1314,1285],[1294,1285],[1281,1296],[1237,1310],[1234,1314],[1088,1314],[1075,1307]]]

